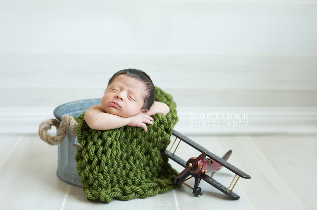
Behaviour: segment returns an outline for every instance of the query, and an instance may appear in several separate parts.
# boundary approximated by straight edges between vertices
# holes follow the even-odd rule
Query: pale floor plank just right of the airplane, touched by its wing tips
[[[233,150],[229,162],[251,176],[250,180],[239,181],[257,210],[303,209],[248,136],[223,136],[217,140],[224,150]]]

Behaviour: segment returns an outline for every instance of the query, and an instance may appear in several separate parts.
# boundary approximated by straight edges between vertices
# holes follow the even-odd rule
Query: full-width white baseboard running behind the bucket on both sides
[[[54,108],[0,107],[0,133],[38,133],[43,120],[54,118]],[[174,129],[184,135],[317,134],[317,107],[178,107],[177,110],[179,121]],[[232,119],[228,120],[229,114]]]

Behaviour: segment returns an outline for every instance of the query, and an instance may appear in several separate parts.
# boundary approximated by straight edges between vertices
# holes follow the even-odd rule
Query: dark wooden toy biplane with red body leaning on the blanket
[[[176,151],[178,145],[173,153],[171,153],[171,149],[169,151],[165,150],[163,152],[168,158],[171,158],[173,161],[175,161],[176,163],[180,164],[181,166],[183,166],[185,168],[178,176],[175,176],[175,184],[186,185],[187,187],[189,187],[193,190],[193,194],[195,196],[198,196],[198,195],[203,195],[203,193],[201,192],[201,188],[198,187],[200,180],[203,179],[204,181],[206,181],[207,183],[209,183],[213,187],[215,187],[218,190],[220,190],[221,192],[223,192],[225,195],[228,195],[229,197],[231,197],[233,199],[240,198],[240,196],[237,195],[236,193],[234,193],[232,190],[236,186],[236,183],[238,182],[240,177],[242,177],[244,179],[250,179],[251,176],[249,176],[248,174],[244,173],[243,171],[237,169],[236,167],[234,167],[233,165],[231,165],[230,163],[228,163],[226,161],[226,160],[228,160],[228,158],[230,157],[230,155],[232,153],[231,150],[229,150],[222,158],[219,158],[217,155],[206,150],[204,147],[197,144],[196,142],[189,139],[188,137],[184,136],[183,134],[178,133],[175,130],[173,130],[172,134],[174,136],[176,136],[176,139],[175,139],[174,143],[172,144],[171,149],[172,149],[173,145],[175,144],[176,140],[180,139],[178,142],[178,145],[179,145],[180,141],[184,141],[185,143],[187,143],[191,147],[202,152],[198,157],[190,158],[187,162],[184,161],[182,158],[179,158],[177,155],[175,155],[175,151]],[[206,156],[208,158],[206,158]],[[236,176],[233,178],[233,180],[228,188],[226,188],[225,186],[223,186],[222,184],[220,184],[219,182],[217,182],[216,180],[214,180],[213,178],[211,178],[210,176],[205,174],[206,172],[212,172],[212,174],[211,174],[211,176],[212,176],[216,171],[220,170],[222,167],[225,167],[236,174]],[[194,187],[191,187],[190,185],[185,183],[186,180],[190,179],[190,178],[186,179],[188,176],[191,176],[190,178],[192,178],[192,177],[195,178]],[[233,184],[233,182],[235,181],[237,176],[238,176],[238,179],[236,180],[235,184],[233,185],[233,187],[230,190],[230,187]]]

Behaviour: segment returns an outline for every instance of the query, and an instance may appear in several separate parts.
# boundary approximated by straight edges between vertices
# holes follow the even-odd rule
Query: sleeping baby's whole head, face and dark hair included
[[[101,105],[107,113],[130,117],[146,112],[155,100],[151,78],[137,69],[124,69],[109,80]]]

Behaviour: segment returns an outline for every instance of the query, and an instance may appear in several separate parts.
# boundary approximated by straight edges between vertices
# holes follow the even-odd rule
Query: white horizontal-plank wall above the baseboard
[[[100,98],[137,68],[187,121],[200,107],[293,107],[316,130],[317,1],[1,0],[0,18],[3,119]]]

